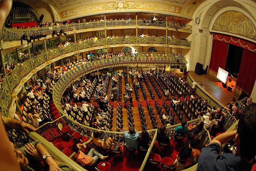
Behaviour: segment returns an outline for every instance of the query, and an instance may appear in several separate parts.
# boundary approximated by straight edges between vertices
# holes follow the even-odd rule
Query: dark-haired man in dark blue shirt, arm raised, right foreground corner
[[[236,154],[221,153],[221,145],[235,138]],[[241,113],[237,130],[215,137],[204,147],[196,170],[251,171],[256,155],[256,104],[249,105]]]

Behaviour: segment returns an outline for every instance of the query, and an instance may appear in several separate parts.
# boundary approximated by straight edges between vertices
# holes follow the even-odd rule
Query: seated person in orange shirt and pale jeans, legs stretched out
[[[105,160],[108,158],[108,156],[103,156],[99,152],[97,152],[94,148],[92,148],[87,155],[85,155],[83,152],[80,151],[80,149],[84,146],[86,148],[86,145],[77,144],[73,147],[73,151],[75,152],[76,160],[81,163],[82,165],[88,165],[92,166],[97,163],[99,158],[101,160]],[[93,157],[93,155],[95,155]]]

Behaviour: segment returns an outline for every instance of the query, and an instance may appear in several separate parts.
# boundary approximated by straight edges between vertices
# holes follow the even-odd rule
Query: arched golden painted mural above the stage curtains
[[[215,21],[213,30],[242,35],[256,40],[256,29],[252,21],[237,11],[226,11]]]

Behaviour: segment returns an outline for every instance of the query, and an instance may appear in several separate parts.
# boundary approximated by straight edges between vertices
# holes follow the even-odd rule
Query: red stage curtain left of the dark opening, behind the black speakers
[[[225,70],[226,61],[228,57],[228,43],[214,40],[212,47],[212,58],[210,69],[218,72],[219,67]]]

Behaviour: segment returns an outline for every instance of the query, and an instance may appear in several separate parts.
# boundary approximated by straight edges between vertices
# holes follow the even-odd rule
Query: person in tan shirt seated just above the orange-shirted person
[[[110,148],[113,144],[116,144],[116,141],[114,141],[111,137],[109,137],[107,140],[105,140],[105,139],[101,140],[99,138],[101,132],[102,132],[101,130],[92,132],[92,141],[95,145],[97,145],[105,150],[107,148]]]

